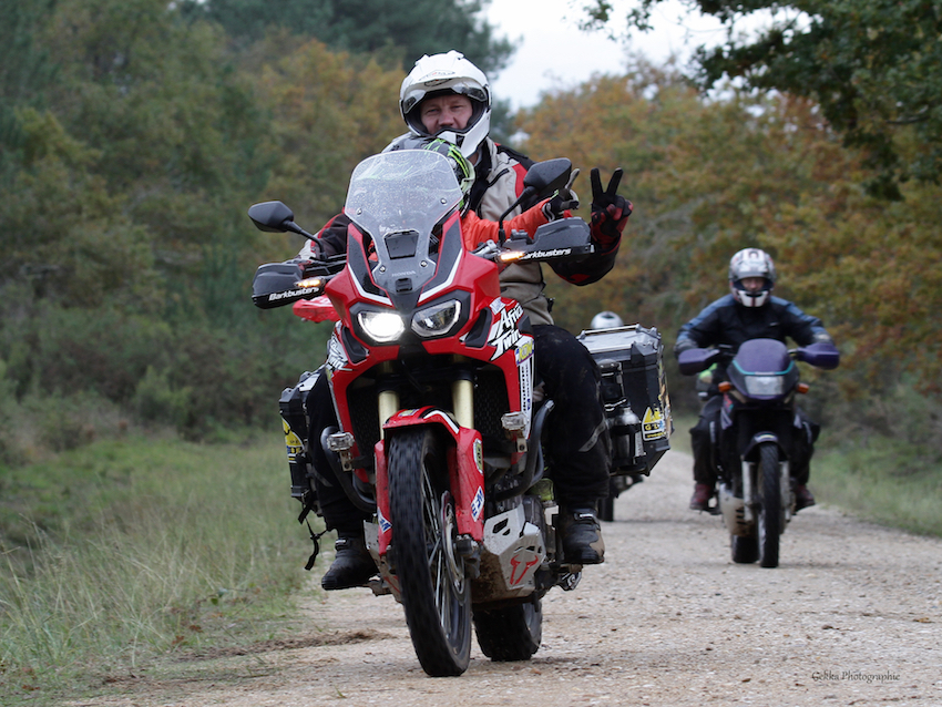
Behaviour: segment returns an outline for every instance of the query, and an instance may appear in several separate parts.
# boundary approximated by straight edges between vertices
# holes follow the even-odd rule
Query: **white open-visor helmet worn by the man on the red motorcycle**
[[[447,93],[459,93],[471,99],[471,120],[463,130],[446,129],[431,135],[414,109],[427,98]],[[470,158],[491,130],[491,88],[488,85],[488,76],[464,59],[464,54],[453,49],[447,54],[426,54],[402,81],[399,112],[413,135],[447,140],[458,145],[461,154]]]

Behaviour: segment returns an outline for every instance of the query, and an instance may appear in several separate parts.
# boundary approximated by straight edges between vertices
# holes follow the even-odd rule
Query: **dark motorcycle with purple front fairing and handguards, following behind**
[[[807,433],[795,427],[796,396],[808,391],[799,382],[796,360],[829,370],[837,368],[840,355],[830,344],[789,351],[776,339],[751,339],[735,354],[719,347],[678,356],[685,376],[714,363],[726,367],[728,380],[718,386],[720,424],[711,445],[733,562],[778,566],[779,537],[795,513],[789,460],[796,434]]]

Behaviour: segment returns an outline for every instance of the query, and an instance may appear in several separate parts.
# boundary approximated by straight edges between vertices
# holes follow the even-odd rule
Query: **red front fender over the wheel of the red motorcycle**
[[[484,445],[478,430],[460,427],[443,410],[401,410],[382,426],[388,433],[406,427],[436,426],[453,441],[447,450],[451,494],[458,532],[477,542],[484,539]],[[395,529],[389,514],[389,475],[386,440],[376,444],[376,505],[379,520],[379,554],[385,555]]]

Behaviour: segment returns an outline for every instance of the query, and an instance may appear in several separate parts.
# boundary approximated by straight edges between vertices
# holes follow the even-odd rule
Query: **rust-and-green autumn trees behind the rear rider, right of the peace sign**
[[[776,294],[836,336],[847,365],[831,378],[847,396],[904,371],[939,391],[942,187],[903,184],[905,202],[868,195],[869,172],[812,101],[748,91],[707,101],[677,72],[642,64],[544,96],[520,127],[534,157],[566,155],[603,176],[622,166],[635,206],[607,277],[585,288],[547,279],[562,326],[577,331],[612,309],[656,326],[669,347],[727,291],[733,253],[758,246],[779,265]]]

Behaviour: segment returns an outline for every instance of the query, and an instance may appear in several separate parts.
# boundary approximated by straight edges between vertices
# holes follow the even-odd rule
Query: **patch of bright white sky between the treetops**
[[[604,32],[581,31],[578,8],[583,4],[585,0],[491,0],[488,21],[518,48],[508,68],[496,78],[489,76],[495,99],[509,99],[514,109],[530,106],[542,91],[573,88],[593,73],[623,73],[626,50],[654,62],[672,52],[685,61],[696,47],[716,43],[724,35],[713,18],[690,16],[678,0],[668,0],[654,8],[654,29],[635,31],[628,47],[606,39]],[[631,3],[614,4],[624,25]]]

